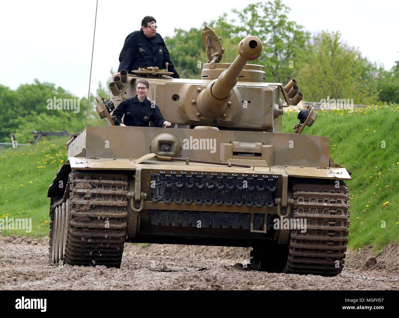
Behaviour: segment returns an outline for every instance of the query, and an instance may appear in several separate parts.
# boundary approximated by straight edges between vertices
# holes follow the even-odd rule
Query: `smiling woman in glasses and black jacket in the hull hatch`
[[[155,126],[165,127],[171,125],[170,122],[162,117],[161,111],[154,102],[147,99],[150,84],[146,79],[139,79],[136,83],[137,95],[128,98],[118,105],[113,116],[117,117],[116,126],[148,126],[150,121]],[[124,115],[123,123],[122,116]]]

